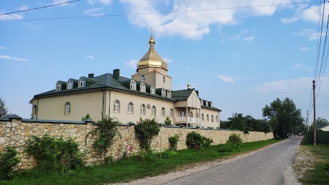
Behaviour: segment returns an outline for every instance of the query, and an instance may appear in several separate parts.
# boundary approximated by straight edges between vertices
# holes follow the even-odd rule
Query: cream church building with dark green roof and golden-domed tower
[[[212,101],[199,98],[198,90],[188,83],[183,90],[171,90],[168,65],[156,52],[153,36],[149,50],[139,60],[132,78],[113,73],[58,81],[55,89],[35,95],[32,103],[34,119],[81,121],[90,114],[93,121],[105,116],[121,123],[136,123],[140,118],[171,125],[220,127],[219,110]]]

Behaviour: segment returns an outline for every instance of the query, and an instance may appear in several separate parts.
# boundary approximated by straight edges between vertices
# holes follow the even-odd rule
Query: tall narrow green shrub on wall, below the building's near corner
[[[109,158],[107,156],[108,149],[113,143],[113,138],[118,134],[117,125],[120,122],[117,119],[113,119],[109,116],[101,119],[95,125],[95,130],[90,132],[93,136],[96,136],[96,140],[94,141],[93,147],[97,154],[104,158],[104,162],[107,164]]]

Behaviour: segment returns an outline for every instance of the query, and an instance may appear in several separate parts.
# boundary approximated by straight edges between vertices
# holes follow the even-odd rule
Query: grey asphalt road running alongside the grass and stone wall
[[[284,184],[284,171],[293,164],[301,139],[286,140],[167,184]]]

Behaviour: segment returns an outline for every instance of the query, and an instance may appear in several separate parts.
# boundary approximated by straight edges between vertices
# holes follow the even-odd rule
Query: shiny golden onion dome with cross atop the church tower
[[[149,38],[149,51],[139,60],[137,64],[137,71],[138,69],[147,68],[147,67],[157,67],[162,68],[166,71],[168,71],[167,62],[159,56],[159,54],[156,52],[156,49],[154,49],[154,45],[156,44],[156,40],[154,40],[153,36],[151,35],[151,38]]]

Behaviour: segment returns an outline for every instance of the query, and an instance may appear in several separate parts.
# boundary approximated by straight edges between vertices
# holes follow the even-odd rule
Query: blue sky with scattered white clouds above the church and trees
[[[62,2],[1,1],[0,14]],[[323,48],[315,70],[323,8],[319,2],[82,0],[2,15],[0,97],[9,112],[29,118],[29,101],[54,89],[58,80],[113,69],[131,77],[149,48],[153,27],[155,47],[168,63],[172,89],[186,88],[189,80],[200,98],[222,110],[221,120],[234,112],[261,119],[262,108],[277,97],[292,99],[302,116],[309,110],[312,120],[315,71],[316,81],[321,82],[317,83],[317,117],[329,120],[327,51],[319,72]],[[159,12],[167,13],[147,14]],[[107,16],[122,14],[130,15]],[[60,19],[29,20],[39,18]]]

